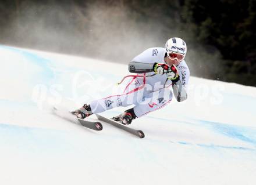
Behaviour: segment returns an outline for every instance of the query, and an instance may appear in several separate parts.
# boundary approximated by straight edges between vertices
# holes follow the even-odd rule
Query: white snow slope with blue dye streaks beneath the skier
[[[0,184],[256,183],[256,88],[191,77],[186,102],[130,125],[138,139],[50,111],[116,93],[127,66],[3,45],[0,56]]]

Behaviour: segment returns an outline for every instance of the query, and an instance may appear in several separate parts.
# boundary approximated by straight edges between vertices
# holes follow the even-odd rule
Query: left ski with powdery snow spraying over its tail
[[[56,107],[54,107],[52,113],[59,118],[65,119],[66,121],[70,121],[74,124],[82,125],[88,129],[93,129],[97,131],[103,129],[103,126],[100,122],[86,121],[84,119],[77,118],[76,115],[70,113],[69,111],[65,111],[65,113],[63,113],[62,111],[59,111]]]

